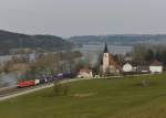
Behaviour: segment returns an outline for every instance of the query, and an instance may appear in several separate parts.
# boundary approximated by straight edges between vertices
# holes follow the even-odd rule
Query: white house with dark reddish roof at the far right
[[[163,72],[163,64],[155,60],[151,65],[149,65],[149,72],[151,73],[162,73]]]

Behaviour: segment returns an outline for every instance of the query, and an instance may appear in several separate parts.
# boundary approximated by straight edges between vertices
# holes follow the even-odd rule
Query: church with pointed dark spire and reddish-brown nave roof
[[[114,57],[111,53],[108,53],[107,44],[105,44],[103,52],[103,61],[102,61],[102,73],[106,74],[117,74],[120,73],[120,68],[117,63],[114,61]]]

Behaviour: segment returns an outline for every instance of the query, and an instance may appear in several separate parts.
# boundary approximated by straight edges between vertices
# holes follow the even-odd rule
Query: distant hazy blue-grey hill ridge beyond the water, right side
[[[72,36],[70,41],[76,44],[101,44],[107,43],[110,45],[128,45],[135,44],[165,44],[166,34],[151,35],[151,34],[115,34],[115,35],[83,35]]]

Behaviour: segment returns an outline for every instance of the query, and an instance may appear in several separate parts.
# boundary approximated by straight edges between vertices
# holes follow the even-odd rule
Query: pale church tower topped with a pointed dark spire
[[[108,53],[107,44],[105,44],[104,54],[103,54],[103,73],[106,73],[108,67],[110,67],[110,53]]]

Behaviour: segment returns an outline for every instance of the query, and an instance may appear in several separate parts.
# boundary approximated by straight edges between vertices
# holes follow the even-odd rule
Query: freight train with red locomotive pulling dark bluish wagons
[[[68,78],[74,78],[76,75],[74,73],[59,73],[59,74],[53,74],[53,75],[43,75],[40,79],[24,79],[20,81],[18,83],[18,87],[30,87],[30,86],[35,86],[39,84],[45,84],[45,83],[52,83],[54,81],[61,81],[61,79],[68,79]]]

